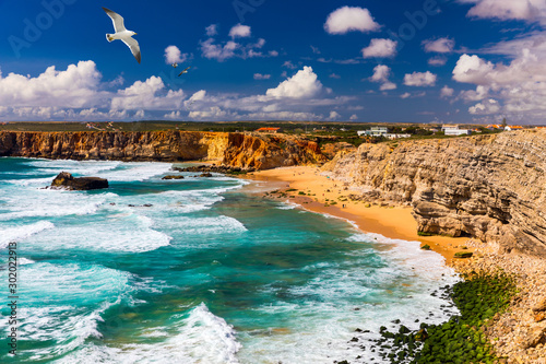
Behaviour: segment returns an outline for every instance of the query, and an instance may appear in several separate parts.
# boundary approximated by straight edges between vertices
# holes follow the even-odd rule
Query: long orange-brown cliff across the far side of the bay
[[[0,132],[0,156],[117,161],[216,161],[257,169],[324,162],[313,142],[278,136],[151,132]]]

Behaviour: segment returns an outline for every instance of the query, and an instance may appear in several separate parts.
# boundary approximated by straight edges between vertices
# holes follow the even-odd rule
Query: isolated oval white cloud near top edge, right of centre
[[[377,32],[380,25],[373,21],[368,9],[356,7],[343,7],[330,15],[324,23],[324,30],[329,34],[345,34],[352,31]]]

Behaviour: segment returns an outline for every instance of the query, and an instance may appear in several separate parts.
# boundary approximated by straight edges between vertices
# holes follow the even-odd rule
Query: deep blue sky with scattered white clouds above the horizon
[[[106,40],[102,7],[138,33],[141,64]],[[546,124],[546,0],[0,0],[0,14],[1,120]]]

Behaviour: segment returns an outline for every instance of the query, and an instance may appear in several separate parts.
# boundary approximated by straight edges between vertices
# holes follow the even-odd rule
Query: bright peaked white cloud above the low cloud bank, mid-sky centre
[[[276,98],[307,98],[318,95],[321,90],[322,83],[318,80],[317,74],[311,67],[306,66],[294,77],[283,81],[277,87],[268,90],[265,94]]]

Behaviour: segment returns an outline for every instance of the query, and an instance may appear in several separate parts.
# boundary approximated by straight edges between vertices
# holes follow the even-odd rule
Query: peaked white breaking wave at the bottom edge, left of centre
[[[179,318],[173,330],[175,332],[164,341],[154,344],[134,343],[112,348],[90,343],[55,363],[239,363],[236,354],[241,344],[237,341],[234,328],[223,318],[213,315],[204,304],[192,309],[187,318]],[[144,332],[142,337],[150,338],[150,333],[159,339],[164,328]]]

